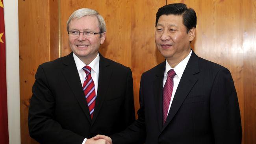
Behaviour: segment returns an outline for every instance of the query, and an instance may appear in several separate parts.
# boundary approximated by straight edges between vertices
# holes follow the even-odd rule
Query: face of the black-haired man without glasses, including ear
[[[181,15],[161,15],[156,25],[155,41],[160,53],[173,68],[190,52],[195,28],[187,33]]]

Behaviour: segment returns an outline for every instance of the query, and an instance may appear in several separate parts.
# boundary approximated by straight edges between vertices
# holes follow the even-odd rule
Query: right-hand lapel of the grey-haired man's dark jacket
[[[99,78],[98,78],[98,91],[96,96],[95,110],[93,114],[93,123],[95,122],[98,114],[100,113],[100,108],[106,97],[106,92],[108,90],[108,85],[110,83],[110,78],[112,74],[112,69],[109,66],[108,61],[101,54],[100,55],[100,65],[99,65]]]

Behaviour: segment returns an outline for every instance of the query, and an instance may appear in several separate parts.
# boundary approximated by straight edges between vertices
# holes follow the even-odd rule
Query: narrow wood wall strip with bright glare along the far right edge
[[[245,144],[256,144],[256,0],[241,4],[244,72]]]

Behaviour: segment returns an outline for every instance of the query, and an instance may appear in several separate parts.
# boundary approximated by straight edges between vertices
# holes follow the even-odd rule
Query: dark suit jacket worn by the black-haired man
[[[241,144],[241,118],[234,81],[227,68],[194,52],[176,90],[163,125],[165,62],[143,73],[140,109],[113,144]]]

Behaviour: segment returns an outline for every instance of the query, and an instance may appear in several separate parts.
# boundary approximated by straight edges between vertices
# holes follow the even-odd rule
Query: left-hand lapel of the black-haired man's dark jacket
[[[156,72],[154,83],[154,100],[156,106],[156,113],[158,117],[159,128],[163,127],[163,75],[165,71],[165,61],[159,65],[159,69]]]

